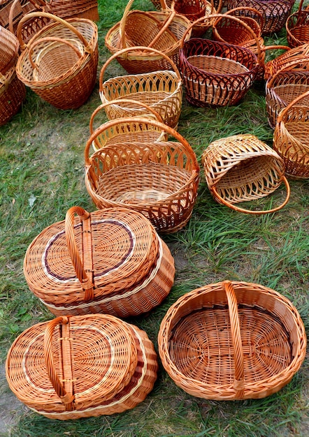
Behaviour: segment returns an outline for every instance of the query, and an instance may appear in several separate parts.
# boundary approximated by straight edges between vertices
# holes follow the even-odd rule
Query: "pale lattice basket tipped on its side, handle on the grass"
[[[202,163],[208,188],[217,202],[238,212],[266,214],[278,211],[289,200],[285,165],[278,154],[254,135],[233,135],[213,141],[203,152]],[[285,182],[287,196],[268,210],[249,210],[236,203],[263,198]]]

